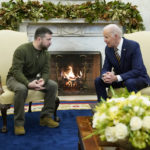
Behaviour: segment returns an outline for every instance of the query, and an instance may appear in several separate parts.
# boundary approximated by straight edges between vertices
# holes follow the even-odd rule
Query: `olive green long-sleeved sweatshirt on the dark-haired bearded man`
[[[32,43],[19,46],[13,55],[12,67],[9,69],[7,79],[10,76],[26,86],[29,79],[36,78],[38,73],[45,82],[49,79],[50,56],[47,50],[37,50]]]

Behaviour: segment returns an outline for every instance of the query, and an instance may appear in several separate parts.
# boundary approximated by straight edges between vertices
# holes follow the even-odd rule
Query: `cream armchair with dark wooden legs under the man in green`
[[[11,30],[0,30],[0,76],[3,88],[3,93],[0,95],[0,109],[3,119],[2,132],[7,131],[7,109],[13,104],[14,92],[8,90],[6,86],[6,77],[8,70],[12,64],[12,57],[15,49],[28,42],[26,33],[16,32]],[[39,101],[44,99],[44,93],[40,91],[29,90],[26,102]],[[56,110],[59,105],[58,99],[56,104]],[[30,109],[31,110],[31,109]],[[55,117],[56,117],[55,110]]]

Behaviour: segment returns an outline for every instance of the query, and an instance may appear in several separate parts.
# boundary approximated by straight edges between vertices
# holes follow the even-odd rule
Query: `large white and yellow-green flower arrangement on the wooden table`
[[[92,125],[102,141],[127,140],[134,148],[144,149],[150,146],[150,98],[133,92],[102,101]]]

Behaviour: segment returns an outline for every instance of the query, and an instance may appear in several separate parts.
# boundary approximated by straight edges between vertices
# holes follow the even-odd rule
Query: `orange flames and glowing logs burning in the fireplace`
[[[61,76],[67,79],[66,87],[77,87],[77,79],[82,78],[82,72],[80,71],[80,74],[75,76],[72,66],[68,66],[66,71],[61,72]]]

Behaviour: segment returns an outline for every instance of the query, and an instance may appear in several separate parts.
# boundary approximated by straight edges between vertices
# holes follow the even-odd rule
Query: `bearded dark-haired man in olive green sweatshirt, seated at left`
[[[15,92],[14,133],[16,135],[25,134],[24,103],[28,89],[45,92],[40,125],[50,128],[59,126],[59,123],[52,119],[58,86],[56,82],[49,80],[50,56],[47,49],[51,45],[51,39],[52,31],[40,27],[35,32],[33,42],[22,44],[14,52],[12,66],[7,76],[7,86]]]

